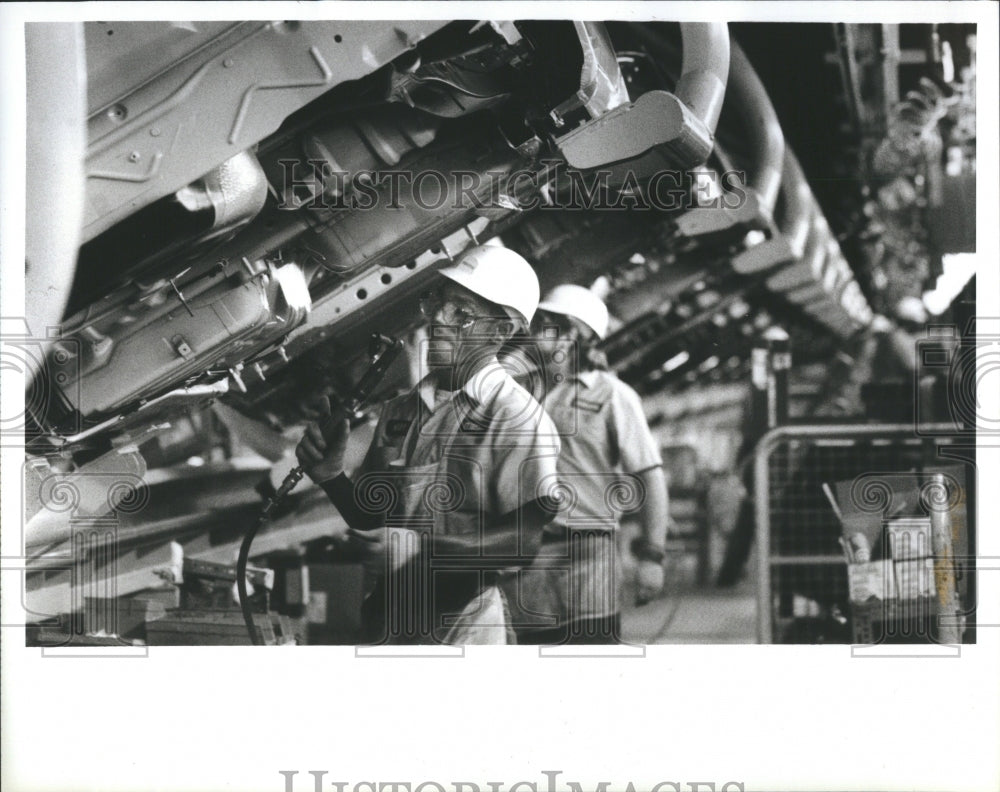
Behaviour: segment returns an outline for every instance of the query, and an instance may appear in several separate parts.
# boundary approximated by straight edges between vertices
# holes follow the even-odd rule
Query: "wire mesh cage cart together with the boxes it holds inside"
[[[975,449],[933,427],[765,436],[754,471],[761,642],[940,642],[956,620],[968,625],[959,639],[974,640]],[[861,599],[873,575],[885,590]]]

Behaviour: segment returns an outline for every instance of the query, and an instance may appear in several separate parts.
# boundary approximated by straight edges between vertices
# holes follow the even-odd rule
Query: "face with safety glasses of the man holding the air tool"
[[[429,321],[427,365],[462,367],[496,354],[510,335],[503,310],[451,281],[438,284],[420,300]]]

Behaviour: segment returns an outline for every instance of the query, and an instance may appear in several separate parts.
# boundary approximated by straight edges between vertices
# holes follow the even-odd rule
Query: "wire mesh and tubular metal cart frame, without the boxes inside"
[[[956,537],[950,568],[956,582],[952,614],[931,608],[926,623],[935,629],[900,631],[898,607],[853,609],[848,597],[847,563],[841,527],[823,493],[823,483],[850,480],[862,508],[890,516],[894,476],[917,477],[926,493],[922,507],[934,511],[934,486],[948,482],[940,497],[950,499],[948,519]],[[942,478],[943,477],[943,478]],[[925,496],[926,495],[926,496]],[[895,634],[899,642],[954,637],[964,619],[974,624],[975,608],[975,439],[951,424],[789,425],[768,432],[754,457],[754,498],[758,540],[758,640],[761,643],[813,642],[790,635],[798,621],[839,620],[830,642],[873,643]],[[942,562],[935,548],[934,563]],[[802,603],[808,608],[801,612]],[[926,603],[925,603],[926,604]],[[948,607],[952,607],[951,604]],[[846,622],[850,620],[848,627]],[[887,626],[882,629],[878,621]],[[925,624],[926,626],[926,624]],[[938,626],[948,626],[940,632]],[[927,632],[925,630],[925,632]],[[974,641],[969,627],[958,635]],[[951,642],[948,640],[948,642]]]

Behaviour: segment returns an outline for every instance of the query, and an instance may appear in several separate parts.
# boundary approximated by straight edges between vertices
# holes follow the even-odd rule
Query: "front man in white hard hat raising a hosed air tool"
[[[310,426],[297,453],[366,559],[367,640],[512,643],[497,582],[538,550],[559,439],[496,356],[530,323],[538,280],[514,251],[485,245],[439,274],[421,299],[429,372],[385,404],[353,480],[346,421]]]

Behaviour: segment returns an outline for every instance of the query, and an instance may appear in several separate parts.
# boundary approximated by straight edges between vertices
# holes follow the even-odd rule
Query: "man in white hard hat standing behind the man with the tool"
[[[533,566],[505,580],[519,643],[614,643],[620,638],[619,517],[638,510],[637,599],[663,587],[667,489],[638,394],[606,370],[595,344],[608,309],[589,289],[549,292],[533,323],[533,347],[505,362],[526,366],[559,431],[560,509]],[[530,387],[530,385],[529,385]]]

